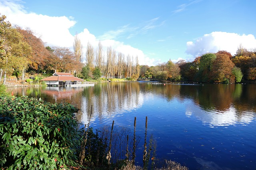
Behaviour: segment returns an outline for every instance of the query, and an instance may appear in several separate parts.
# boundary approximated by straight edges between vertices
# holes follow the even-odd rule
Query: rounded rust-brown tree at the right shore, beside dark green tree
[[[210,80],[215,83],[234,83],[233,67],[234,63],[230,60],[229,55],[216,53],[216,59],[212,63]]]

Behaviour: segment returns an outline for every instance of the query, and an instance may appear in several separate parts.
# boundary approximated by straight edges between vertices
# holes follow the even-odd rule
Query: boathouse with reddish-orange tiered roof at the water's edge
[[[67,86],[67,85],[81,85],[83,79],[74,77],[71,73],[55,72],[51,77],[42,79],[48,86]]]

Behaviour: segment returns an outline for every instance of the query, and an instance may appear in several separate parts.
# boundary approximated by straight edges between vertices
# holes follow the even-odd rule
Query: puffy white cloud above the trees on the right
[[[256,39],[252,34],[239,35],[228,32],[212,32],[204,34],[195,42],[187,42],[186,53],[198,57],[205,53],[216,53],[219,50],[224,50],[234,55],[240,44],[246,49],[253,49],[256,47]]]

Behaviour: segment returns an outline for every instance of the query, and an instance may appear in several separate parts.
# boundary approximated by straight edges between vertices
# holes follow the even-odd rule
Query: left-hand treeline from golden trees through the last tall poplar
[[[116,53],[111,46],[105,52],[101,42],[94,49],[88,42],[84,58],[83,45],[78,35],[74,37],[74,51],[67,47],[45,47],[35,32],[29,28],[12,27],[5,19],[6,16],[0,16],[0,79],[4,73],[4,81],[6,74],[16,75],[17,79],[22,75],[24,79],[25,72],[52,74],[54,71],[70,71],[76,77],[85,79],[98,79],[101,75],[106,78],[139,77],[138,56]]]

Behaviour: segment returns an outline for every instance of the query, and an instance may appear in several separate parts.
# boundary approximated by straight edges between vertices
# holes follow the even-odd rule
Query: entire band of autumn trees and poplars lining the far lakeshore
[[[71,72],[76,77],[98,79],[130,78],[170,81],[197,81],[234,83],[256,79],[256,50],[242,45],[234,56],[227,51],[206,53],[192,62],[167,61],[156,66],[139,65],[138,56],[117,53],[111,46],[104,51],[101,42],[94,49],[88,42],[86,51],[76,35],[73,51],[67,47],[45,47],[40,37],[30,29],[12,27],[6,17],[0,16],[0,80],[6,74],[19,79],[25,72],[52,74]],[[83,57],[85,56],[85,57]]]

